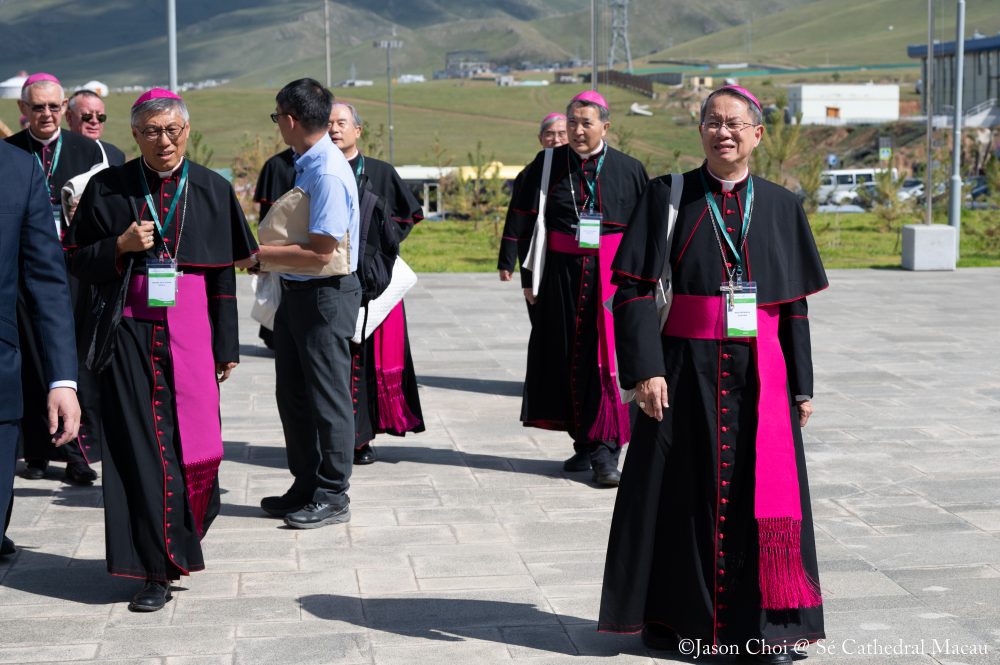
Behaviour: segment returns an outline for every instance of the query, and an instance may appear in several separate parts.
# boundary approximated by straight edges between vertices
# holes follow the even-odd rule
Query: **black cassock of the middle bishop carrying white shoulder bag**
[[[518,177],[503,232],[501,269],[513,269],[530,245],[544,154],[539,152]],[[607,385],[598,366],[598,316],[604,311],[599,302],[601,257],[555,251],[551,241],[553,234],[560,234],[575,242],[577,211],[589,209],[585,180],[594,180],[600,159],[600,154],[584,159],[568,145],[553,150],[545,215],[550,242],[533,308],[521,421],[526,427],[568,432],[577,446],[604,441],[617,449],[620,441],[591,435],[609,390],[617,402],[617,390]],[[621,238],[647,181],[638,160],[607,148],[594,187],[594,210],[603,215],[602,246]],[[521,284],[531,286],[531,271],[523,265]],[[627,423],[619,428],[625,430],[621,433],[626,441],[627,428]]]

